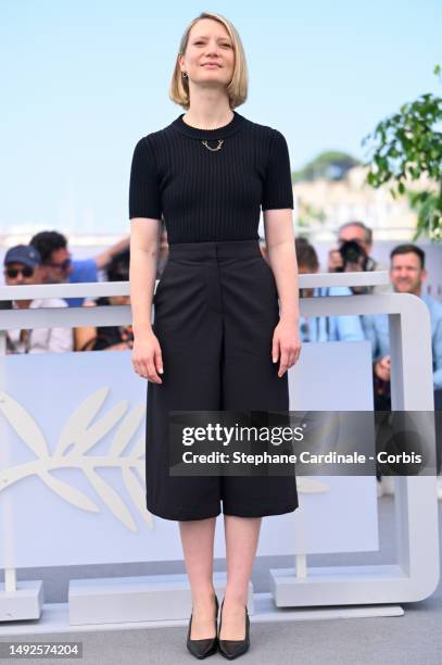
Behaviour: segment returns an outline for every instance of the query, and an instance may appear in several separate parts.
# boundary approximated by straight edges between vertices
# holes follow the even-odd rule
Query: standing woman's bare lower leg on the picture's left
[[[192,592],[191,640],[215,636],[213,543],[216,517],[179,523],[186,570]]]

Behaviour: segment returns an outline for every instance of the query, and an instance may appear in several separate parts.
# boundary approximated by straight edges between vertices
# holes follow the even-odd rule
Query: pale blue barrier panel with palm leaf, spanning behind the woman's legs
[[[370,405],[368,343],[324,343],[303,350],[300,376],[291,384],[299,409],[315,405],[308,393],[301,398],[296,386],[315,375],[318,360],[327,376],[336,376],[342,403],[351,403],[353,394],[358,410],[363,403]],[[355,366],[364,371],[354,373]],[[0,566],[181,559],[176,523],[146,509],[147,384],[134,373],[130,352],[8,355],[4,372],[0,419],[9,465],[0,474],[3,517],[7,493],[12,502],[8,520],[1,519]],[[328,407],[324,399],[321,404]],[[337,405],[334,400],[332,406]],[[374,478],[300,477],[301,494],[303,486],[310,488],[310,552],[378,547]],[[352,502],[349,491],[354,492]],[[295,517],[293,513],[265,519],[258,554],[298,552]],[[218,527],[215,555],[224,556],[220,520]],[[300,551],[304,547],[305,542]]]

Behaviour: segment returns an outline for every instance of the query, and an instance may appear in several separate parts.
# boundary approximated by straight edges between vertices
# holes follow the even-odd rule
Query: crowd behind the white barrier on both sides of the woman
[[[93,283],[99,272],[104,272],[111,281],[129,279],[129,237],[96,256],[75,260],[68,249],[67,239],[58,231],[36,234],[28,244],[18,244],[4,255],[4,281],[7,285],[36,285],[62,283]],[[299,273],[317,273],[319,261],[315,248],[304,238],[296,238]],[[389,267],[390,286],[384,287],[323,287],[302,289],[301,297],[349,296],[376,292],[387,289],[399,293],[413,293],[424,300],[431,317],[431,347],[433,361],[433,387],[437,407],[442,403],[442,303],[430,298],[424,290],[427,279],[425,252],[416,244],[395,247],[390,254],[390,266],[384,266],[371,256],[372,233],[362,222],[349,222],[338,231],[337,247],[328,254],[328,272],[379,271]],[[265,246],[262,246],[266,258]],[[157,276],[167,261],[167,236],[162,227]],[[129,304],[129,296],[110,296],[98,299],[46,298],[4,301],[2,306],[60,308]],[[390,354],[388,316],[321,316],[300,321],[303,342],[368,340],[371,344],[374,366],[375,407],[389,410]],[[34,330],[9,330],[8,353],[45,353],[63,351],[124,350],[132,347],[130,326],[38,328]]]

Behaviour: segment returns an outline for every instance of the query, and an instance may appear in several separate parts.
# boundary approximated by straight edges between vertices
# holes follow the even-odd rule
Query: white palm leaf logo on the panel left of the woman
[[[14,482],[37,475],[59,497],[84,511],[99,513],[99,506],[77,488],[52,475],[60,468],[79,468],[113,515],[130,531],[137,532],[138,526],[122,497],[97,472],[97,467],[118,467],[136,510],[147,525],[152,528],[152,514],[146,506],[144,486],[144,437],[141,436],[129,454],[131,439],[140,425],[146,406],[139,404],[128,410],[128,400],[115,404],[103,416],[92,422],[101,409],[110,389],[100,388],[90,394],[67,419],[53,454],[50,454],[45,435],[33,416],[7,392],[0,392],[0,411],[16,435],[37,457],[31,462],[0,469],[0,491]],[[109,453],[91,455],[89,451],[115,429]]]

